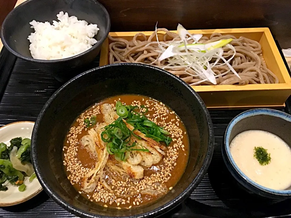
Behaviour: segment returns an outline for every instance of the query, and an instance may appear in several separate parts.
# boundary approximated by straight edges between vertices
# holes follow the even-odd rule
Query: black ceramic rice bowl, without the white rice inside
[[[0,6],[1,7],[1,6]],[[50,22],[57,20],[57,14],[63,11],[76,16],[88,24],[97,24],[97,43],[88,50],[75,56],[56,60],[34,59],[31,56],[27,39],[35,32],[29,22]],[[92,62],[99,54],[102,43],[110,30],[110,17],[105,7],[96,0],[27,0],[13,9],[3,21],[1,40],[5,48],[16,57],[29,61],[37,69],[52,73],[54,77],[66,82],[81,73],[84,66]]]

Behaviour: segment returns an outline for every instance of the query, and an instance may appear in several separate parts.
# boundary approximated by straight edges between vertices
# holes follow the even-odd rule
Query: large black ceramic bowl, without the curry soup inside
[[[92,104],[119,94],[142,94],[172,108],[189,136],[189,160],[182,178],[159,200],[117,210],[82,197],[66,177],[62,163],[65,136]],[[213,153],[213,127],[199,95],[176,76],[144,64],[112,64],[87,71],[56,91],[40,112],[32,134],[32,162],[44,190],[60,206],[81,217],[156,217],[171,210],[197,187]]]

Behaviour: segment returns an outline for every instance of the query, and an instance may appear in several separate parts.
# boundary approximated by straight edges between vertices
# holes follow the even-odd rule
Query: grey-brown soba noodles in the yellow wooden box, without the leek
[[[179,41],[180,37],[178,34],[170,32],[166,28],[158,28],[156,31],[165,32],[164,41],[160,43],[171,43]],[[146,38],[143,33],[137,33],[131,41],[127,41],[122,38],[112,38],[110,35],[109,39],[112,41],[109,45],[109,63],[143,63],[151,64],[153,66],[165,69],[177,77],[181,78],[190,85],[213,85],[206,79],[199,78],[192,69],[181,66],[173,68],[167,66],[169,64],[169,58],[158,61],[161,50],[156,41],[156,31]],[[233,35],[221,35],[220,33],[213,33],[209,38],[203,36],[199,43],[210,43],[221,39],[233,40],[229,43],[235,50],[236,54],[229,64],[239,74],[239,79],[234,73],[232,73],[227,65],[216,65],[212,68],[212,71],[216,74],[216,81],[219,85],[230,85],[230,84],[272,84],[279,83],[277,76],[270,71],[265,62],[262,59],[262,49],[259,42],[245,38],[236,38]],[[193,43],[193,40],[188,40],[188,43]],[[233,50],[224,46],[223,57],[228,60],[234,54]],[[215,58],[212,58],[215,61]],[[223,63],[221,60],[218,63]]]

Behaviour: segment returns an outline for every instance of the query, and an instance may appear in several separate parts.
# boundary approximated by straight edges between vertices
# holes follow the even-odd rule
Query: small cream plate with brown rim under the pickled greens
[[[16,137],[30,138],[32,136],[34,122],[20,121],[11,124],[7,124],[0,128],[0,142],[10,146],[10,140]],[[42,186],[38,182],[37,178],[29,182],[29,177],[26,177],[24,183],[26,190],[24,192],[18,191],[18,187],[8,183],[7,191],[0,191],[0,206],[12,206],[19,203],[23,203],[32,197],[36,196],[42,191]],[[5,185],[6,185],[5,183]]]

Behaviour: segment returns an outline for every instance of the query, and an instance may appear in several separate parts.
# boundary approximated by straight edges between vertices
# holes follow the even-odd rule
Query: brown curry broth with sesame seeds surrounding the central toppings
[[[152,165],[152,167],[142,166],[144,168],[144,178],[145,178],[150,177],[153,174],[154,175],[161,174],[165,166],[165,162],[169,163],[172,161],[171,165],[172,168],[169,170],[169,172],[167,172],[168,176],[168,177],[166,176],[167,180],[163,182],[166,185],[168,191],[175,186],[175,184],[179,181],[179,179],[181,178],[182,174],[185,171],[189,156],[189,139],[186,133],[185,126],[179,120],[179,117],[176,116],[174,111],[172,111],[169,107],[163,105],[159,101],[141,95],[119,95],[109,97],[93,105],[76,119],[66,137],[62,155],[65,172],[68,176],[68,179],[72,183],[73,187],[83,197],[88,198],[92,202],[98,203],[99,205],[105,207],[110,206],[117,207],[118,209],[122,208],[130,209],[131,207],[134,206],[141,206],[150,203],[156,200],[157,198],[161,197],[165,193],[158,196],[152,196],[147,194],[136,194],[133,195],[132,197],[118,197],[118,193],[115,193],[116,199],[112,202],[110,201],[108,202],[104,199],[102,200],[102,196],[96,197],[96,193],[99,192],[98,187],[96,187],[96,189],[89,194],[81,190],[81,180],[83,176],[94,168],[97,160],[95,160],[94,157],[92,157],[90,153],[85,148],[81,147],[81,145],[79,144],[79,140],[84,135],[88,134],[87,131],[90,128],[90,127],[86,128],[85,126],[82,127],[82,125],[80,124],[83,123],[86,117],[89,118],[92,115],[96,116],[97,122],[102,122],[102,114],[100,114],[99,107],[105,103],[112,104],[112,106],[113,105],[115,106],[115,103],[118,100],[121,101],[122,103],[125,103],[126,105],[137,105],[137,104],[148,105],[149,111],[146,112],[145,115],[150,120],[156,122],[161,127],[164,127],[165,125],[174,124],[176,126],[176,130],[180,129],[179,132],[182,134],[179,135],[178,134],[174,135],[173,132],[171,132],[168,129],[173,141],[167,147],[167,151],[165,151],[166,155],[163,156],[162,160],[159,163]],[[163,108],[164,110],[157,110],[156,108]],[[160,124],[159,122],[163,123]],[[174,161],[171,158],[173,153],[177,155],[177,158]],[[114,155],[109,155],[109,159],[114,160],[115,159]],[[152,188],[154,189],[157,187],[153,186]],[[113,190],[113,192],[115,191]]]

